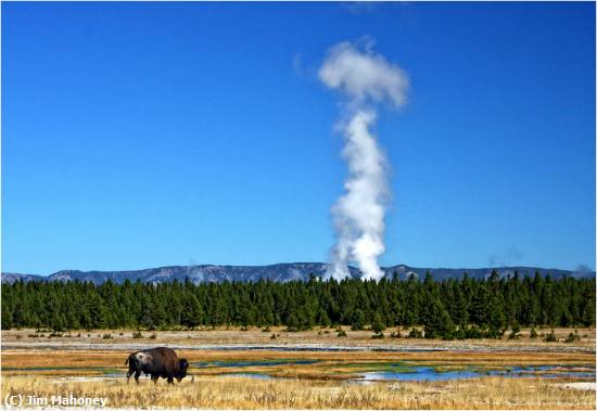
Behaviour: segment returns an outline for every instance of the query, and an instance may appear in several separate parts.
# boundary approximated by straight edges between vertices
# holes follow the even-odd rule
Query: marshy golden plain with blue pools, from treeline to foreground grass
[[[8,331],[1,390],[2,398],[74,394],[135,408],[594,409],[595,332],[579,329],[580,342],[563,343],[570,332],[556,330],[560,341],[545,343],[526,330],[520,339],[459,342],[379,341],[348,329],[346,337],[333,329],[155,332],[154,338],[153,332],[134,338],[130,330],[51,338]],[[127,385],[127,352],[157,345],[178,347],[191,362],[189,377],[174,387],[144,377]]]

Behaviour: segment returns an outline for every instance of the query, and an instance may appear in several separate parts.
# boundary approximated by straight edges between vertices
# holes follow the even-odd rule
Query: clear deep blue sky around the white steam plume
[[[2,270],[325,261],[329,47],[381,107],[382,265],[595,267],[593,3],[2,3]]]

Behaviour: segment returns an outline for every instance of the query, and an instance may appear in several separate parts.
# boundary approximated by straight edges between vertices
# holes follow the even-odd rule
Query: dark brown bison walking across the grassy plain
[[[160,377],[166,378],[168,384],[174,384],[174,378],[180,383],[180,380],[187,376],[187,369],[189,368],[189,361],[186,359],[179,360],[174,349],[167,347],[132,352],[128,356],[126,364],[128,364],[127,383],[130,376],[135,374],[137,384],[139,384],[141,372],[151,375],[151,381],[154,383],[157,383]]]

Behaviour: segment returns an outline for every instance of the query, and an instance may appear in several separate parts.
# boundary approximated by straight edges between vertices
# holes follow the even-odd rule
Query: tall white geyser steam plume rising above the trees
[[[348,167],[345,193],[332,207],[338,242],[327,278],[346,278],[348,262],[356,261],[364,279],[380,280],[378,257],[383,254],[386,158],[371,128],[376,103],[399,107],[406,103],[408,78],[395,64],[374,54],[371,44],[341,42],[333,46],[319,68],[320,80],[346,99],[346,118],[339,124],[345,145],[342,155]]]

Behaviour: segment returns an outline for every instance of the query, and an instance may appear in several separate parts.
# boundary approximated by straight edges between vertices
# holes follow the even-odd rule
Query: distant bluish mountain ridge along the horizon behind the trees
[[[326,272],[328,265],[323,262],[284,262],[270,266],[172,266],[150,268],[134,271],[79,271],[63,270],[51,275],[35,275],[3,272],[2,283],[13,283],[15,281],[90,281],[94,284],[102,284],[109,280],[114,283],[123,283],[125,280],[132,282],[139,280],[143,283],[164,283],[174,280],[185,281],[187,278],[198,284],[204,282],[224,282],[224,281],[259,281],[270,280],[278,282],[306,281],[310,273],[321,277]],[[358,278],[360,272],[355,267],[350,267],[353,278]],[[422,279],[425,272],[429,272],[435,280],[460,279],[465,272],[473,279],[487,278],[493,270],[498,275],[513,275],[516,271],[523,275],[534,275],[539,272],[542,275],[551,275],[558,279],[564,275],[573,278],[595,278],[595,271],[571,271],[559,269],[544,269],[537,267],[495,267],[495,268],[417,268],[405,265],[384,267],[385,278],[392,279],[394,273],[398,273],[401,280],[406,280],[410,275]]]

